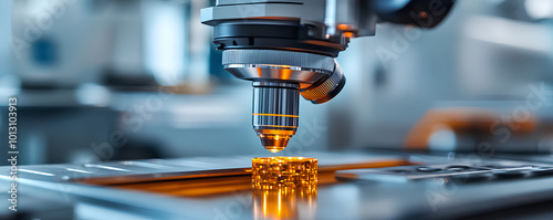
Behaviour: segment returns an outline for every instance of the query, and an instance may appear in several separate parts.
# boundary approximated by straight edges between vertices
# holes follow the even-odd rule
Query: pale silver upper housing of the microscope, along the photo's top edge
[[[326,27],[324,35],[338,36],[344,31],[356,36],[375,34],[377,17],[366,0],[225,0],[201,10],[201,22],[215,25],[229,20],[300,19],[301,23]],[[347,25],[346,30],[341,27]]]

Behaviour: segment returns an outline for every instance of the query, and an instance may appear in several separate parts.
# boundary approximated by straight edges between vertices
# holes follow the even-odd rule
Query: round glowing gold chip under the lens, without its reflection
[[[317,159],[305,157],[261,157],[252,159],[253,189],[316,187]]]

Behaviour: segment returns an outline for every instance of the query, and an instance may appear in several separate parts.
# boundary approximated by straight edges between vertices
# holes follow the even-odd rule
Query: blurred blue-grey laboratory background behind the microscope
[[[0,133],[15,96],[20,164],[271,154],[251,82],[222,69],[200,23],[212,4],[0,1]],[[462,0],[436,29],[377,25],[338,56],[340,95],[301,101],[280,155],[552,151],[553,1]]]

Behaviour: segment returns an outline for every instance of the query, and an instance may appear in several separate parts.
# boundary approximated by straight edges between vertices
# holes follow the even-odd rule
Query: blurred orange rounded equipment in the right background
[[[480,153],[490,143],[500,143],[504,138],[534,134],[538,130],[534,115],[525,121],[512,122],[502,122],[501,117],[501,113],[481,107],[430,109],[411,128],[405,139],[405,147],[411,150],[428,148],[432,151]],[[495,147],[499,149],[501,146]],[[504,148],[502,150],[507,151]]]

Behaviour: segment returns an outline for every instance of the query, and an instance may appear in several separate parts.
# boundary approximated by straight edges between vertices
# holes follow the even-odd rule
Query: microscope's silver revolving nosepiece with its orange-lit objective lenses
[[[226,50],[225,70],[253,81],[253,129],[263,147],[280,151],[295,135],[299,97],[325,103],[345,84],[332,56],[284,50]]]

